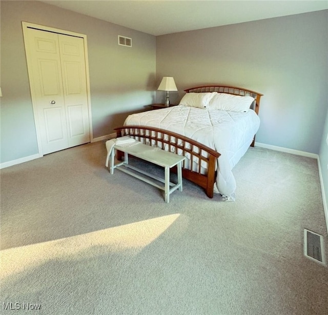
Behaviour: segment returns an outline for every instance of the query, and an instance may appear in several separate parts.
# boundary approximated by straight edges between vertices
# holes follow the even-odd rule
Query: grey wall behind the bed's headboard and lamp
[[[264,94],[257,142],[319,153],[327,109],[328,10],[157,36],[156,83]],[[162,101],[163,95],[160,95]]]

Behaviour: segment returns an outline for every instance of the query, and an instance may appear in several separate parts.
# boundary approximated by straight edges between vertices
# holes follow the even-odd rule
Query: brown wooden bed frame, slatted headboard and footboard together
[[[225,86],[225,85],[204,85],[185,90],[186,93],[194,92],[219,92],[241,96],[252,96],[254,102],[251,108],[258,114],[260,108],[260,98],[263,94],[248,89]],[[191,182],[205,189],[209,198],[213,198],[213,188],[216,178],[216,161],[220,153],[215,150],[196,142],[188,137],[175,132],[146,126],[123,126],[114,128],[117,137],[129,135],[134,139],[149,145],[156,145],[160,148],[168,147],[170,152],[178,152],[183,156],[188,156],[190,164],[186,160],[182,166],[182,176]],[[254,146],[255,136],[251,146]],[[117,151],[117,158],[122,159],[124,153]],[[192,158],[191,158],[192,157]],[[196,163],[194,163],[196,161]],[[200,163],[201,162],[201,163]],[[206,165],[207,174],[201,173],[201,167]],[[197,170],[195,170],[197,165]]]

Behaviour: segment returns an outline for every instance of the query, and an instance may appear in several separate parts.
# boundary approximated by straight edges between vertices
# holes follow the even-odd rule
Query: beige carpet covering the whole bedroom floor
[[[328,252],[316,160],[250,148],[236,202],[185,180],[166,204],[105,159],[98,142],[1,170],[0,313],[328,314],[328,268],[303,255],[304,228]]]

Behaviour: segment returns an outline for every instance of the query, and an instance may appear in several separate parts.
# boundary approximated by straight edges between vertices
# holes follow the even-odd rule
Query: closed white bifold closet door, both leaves
[[[27,34],[42,153],[90,142],[84,39],[34,28]]]

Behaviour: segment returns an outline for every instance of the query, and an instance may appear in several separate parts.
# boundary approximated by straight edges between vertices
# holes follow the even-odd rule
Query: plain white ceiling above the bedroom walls
[[[328,9],[327,0],[42,2],[156,36]]]

